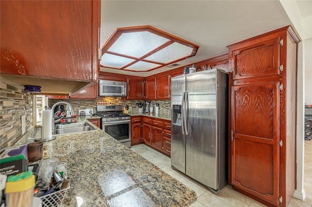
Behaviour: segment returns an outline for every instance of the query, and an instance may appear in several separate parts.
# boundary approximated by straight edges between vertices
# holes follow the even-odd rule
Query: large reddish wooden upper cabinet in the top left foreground
[[[0,1],[1,73],[96,82],[100,1]]]

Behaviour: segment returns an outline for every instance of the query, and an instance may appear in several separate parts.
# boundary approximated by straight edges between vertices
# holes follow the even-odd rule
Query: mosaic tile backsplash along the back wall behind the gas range
[[[107,104],[126,104],[131,107],[133,113],[138,113],[137,103],[144,104],[142,100],[122,100],[121,97],[100,97],[98,100],[65,100],[65,99],[49,99],[49,107],[52,107],[58,102],[67,102],[72,105],[75,114],[78,114],[78,109],[93,108],[94,113],[97,113],[97,103],[105,102]],[[159,104],[159,114],[171,113],[171,101],[151,101],[151,104],[155,107],[155,103]]]

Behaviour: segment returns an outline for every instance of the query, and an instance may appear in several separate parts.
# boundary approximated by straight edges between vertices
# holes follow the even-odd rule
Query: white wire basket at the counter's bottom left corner
[[[42,207],[60,207],[63,203],[66,191],[70,189],[70,185],[63,190],[59,190],[48,195],[41,196]]]

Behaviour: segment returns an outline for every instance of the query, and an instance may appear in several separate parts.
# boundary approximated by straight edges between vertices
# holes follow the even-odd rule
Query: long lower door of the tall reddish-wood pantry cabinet
[[[279,83],[232,86],[231,184],[279,204]]]

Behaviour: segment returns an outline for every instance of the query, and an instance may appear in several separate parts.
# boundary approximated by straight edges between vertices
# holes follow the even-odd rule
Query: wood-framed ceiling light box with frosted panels
[[[101,67],[135,72],[195,56],[199,46],[150,25],[118,28],[101,49]]]

